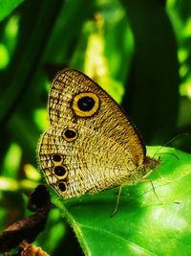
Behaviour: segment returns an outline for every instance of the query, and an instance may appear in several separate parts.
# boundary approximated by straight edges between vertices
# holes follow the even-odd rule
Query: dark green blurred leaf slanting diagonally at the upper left
[[[28,90],[33,89],[32,81],[38,67],[36,63],[43,58],[45,46],[53,32],[53,25],[61,6],[60,0],[44,0],[37,4],[35,1],[27,1],[23,5],[18,43],[9,67],[0,74],[1,84],[8,84],[3,88],[3,97],[0,101],[0,107],[6,105],[3,107],[4,111],[0,112],[1,127],[7,124],[18,103],[25,99]],[[33,90],[31,97],[32,93]]]

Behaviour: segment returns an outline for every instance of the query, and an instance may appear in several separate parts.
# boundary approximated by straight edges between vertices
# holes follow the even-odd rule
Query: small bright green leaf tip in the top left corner
[[[8,16],[24,0],[1,0],[0,1],[0,21]]]

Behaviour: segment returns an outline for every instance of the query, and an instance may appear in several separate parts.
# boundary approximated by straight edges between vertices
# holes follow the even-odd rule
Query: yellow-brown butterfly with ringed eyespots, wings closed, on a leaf
[[[158,164],[146,156],[138,129],[89,77],[60,71],[49,96],[50,128],[39,144],[39,164],[61,198],[136,184]]]

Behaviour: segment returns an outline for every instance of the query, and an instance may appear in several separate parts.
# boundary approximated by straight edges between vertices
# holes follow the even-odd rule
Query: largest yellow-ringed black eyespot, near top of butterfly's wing
[[[81,92],[74,96],[73,110],[76,116],[93,116],[99,107],[99,98],[92,92]]]

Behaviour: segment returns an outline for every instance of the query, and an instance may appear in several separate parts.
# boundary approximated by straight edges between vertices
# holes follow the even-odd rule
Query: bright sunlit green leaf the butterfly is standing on
[[[148,150],[152,156],[158,148]],[[54,199],[85,255],[189,255],[191,155],[170,148],[161,148],[159,154],[158,172],[151,175],[159,198],[150,182],[124,186],[112,218],[118,188],[70,200]]]

